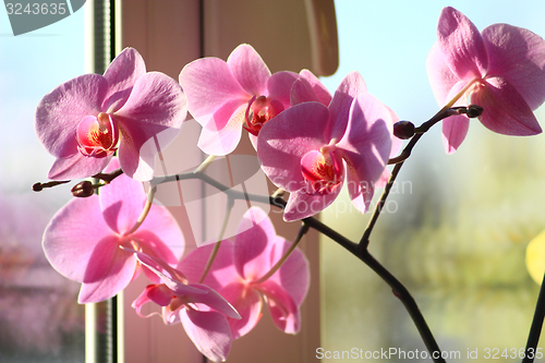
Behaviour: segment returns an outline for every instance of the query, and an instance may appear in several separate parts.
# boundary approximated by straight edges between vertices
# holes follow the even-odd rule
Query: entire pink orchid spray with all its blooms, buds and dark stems
[[[102,181],[76,184],[73,194],[85,197],[69,202],[52,217],[44,233],[45,254],[60,274],[82,283],[81,303],[114,297],[144,270],[149,285],[133,302],[136,314],[146,316],[143,306],[155,304],[165,324],[181,323],[196,349],[220,362],[228,359],[233,340],[251,334],[264,305],[281,331],[301,330],[311,275],[310,262],[296,246],[312,228],[388,283],[410,313],[428,356],[445,362],[415,300],[370,253],[371,234],[401,167],[439,121],[448,153],[464,140],[470,118],[506,135],[541,132],[533,110],[545,100],[545,41],[508,24],[480,33],[462,13],[445,8],[427,73],[441,108],[415,126],[399,121],[371,95],[355,71],[331,97],[307,70],[271,74],[255,49],[243,44],[227,61],[203,58],[186,64],[178,84],[165,74],[146,73],[142,57],[128,48],[104,76],[71,80],[37,107],[37,136],[57,159],[49,171],[55,181],[34,189],[66,179]],[[154,178],[161,150],[157,145],[175,136],[187,110],[202,126],[197,146],[210,157],[191,172]],[[214,156],[237,148],[243,129],[261,170],[278,187],[270,195],[223,185],[206,169]],[[400,138],[407,140],[402,149]],[[186,179],[223,193],[228,208],[220,235],[208,244],[196,241],[204,246],[183,254],[177,221],[153,201],[159,184]],[[147,195],[143,182],[149,186]],[[360,213],[372,210],[358,242],[315,217],[343,186]],[[384,191],[372,207],[377,187]],[[256,207],[247,208],[228,239],[230,211],[240,199],[270,204],[284,221],[300,220],[293,242],[277,235],[278,226]],[[544,304],[538,302],[536,311]],[[536,322],[524,354],[535,352]]]

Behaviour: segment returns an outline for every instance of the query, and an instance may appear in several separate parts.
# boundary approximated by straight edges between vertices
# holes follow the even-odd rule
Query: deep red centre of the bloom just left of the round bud
[[[331,193],[342,181],[342,157],[335,143],[311,150],[301,159],[301,171],[314,192]]]

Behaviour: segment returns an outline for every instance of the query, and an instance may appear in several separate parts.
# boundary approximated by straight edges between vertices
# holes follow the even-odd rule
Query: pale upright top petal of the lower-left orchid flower
[[[119,160],[113,158],[105,171],[118,168]],[[99,201],[108,226],[112,231],[123,234],[132,229],[144,209],[146,194],[142,182],[121,174],[100,189]]]

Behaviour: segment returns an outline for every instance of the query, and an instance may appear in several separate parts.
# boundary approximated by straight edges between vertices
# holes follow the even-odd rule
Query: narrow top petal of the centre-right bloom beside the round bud
[[[367,92],[363,77],[358,72],[351,72],[341,81],[335,90],[334,98],[329,105],[331,121],[326,131],[329,140],[340,140],[347,130],[348,119],[352,101],[358,95]]]

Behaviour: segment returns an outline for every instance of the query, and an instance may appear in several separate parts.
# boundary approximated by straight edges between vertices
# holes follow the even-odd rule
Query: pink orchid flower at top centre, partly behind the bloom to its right
[[[257,136],[265,122],[290,107],[291,85],[299,77],[306,78],[320,100],[329,104],[327,88],[310,71],[271,75],[250,45],[237,47],[227,62],[209,57],[186,64],[180,84],[191,114],[203,126],[198,147],[209,155],[227,155],[239,144],[242,128]]]

